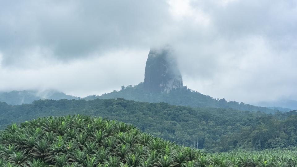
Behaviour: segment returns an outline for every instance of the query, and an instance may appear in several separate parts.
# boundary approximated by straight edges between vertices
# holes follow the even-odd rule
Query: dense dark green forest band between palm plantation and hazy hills
[[[284,148],[297,144],[296,111],[265,114],[124,99],[38,100],[23,105],[0,103],[0,128],[37,117],[78,113],[131,123],[144,132],[207,152]]]

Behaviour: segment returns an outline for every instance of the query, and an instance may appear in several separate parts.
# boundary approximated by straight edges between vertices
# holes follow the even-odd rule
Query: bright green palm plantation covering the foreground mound
[[[80,123],[86,126],[81,126]],[[61,133],[58,128],[49,131],[50,124],[67,126]],[[92,125],[91,130],[90,125]],[[80,128],[76,128],[75,134],[70,135],[66,130],[69,127]],[[123,127],[125,127],[124,130]],[[108,133],[105,133],[105,128],[108,128]],[[13,129],[14,131],[11,131],[11,127],[8,127],[0,133],[0,167],[285,167],[297,165],[295,148],[205,154],[198,149],[183,147],[153,137],[123,122],[84,115],[38,118],[31,122],[13,125]],[[101,134],[100,140],[94,137],[98,134]],[[33,145],[24,142],[33,138],[35,139]]]

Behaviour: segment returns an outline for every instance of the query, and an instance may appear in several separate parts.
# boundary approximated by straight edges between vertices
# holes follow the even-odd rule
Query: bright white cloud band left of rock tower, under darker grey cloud
[[[1,91],[57,89],[74,96],[111,92],[122,85],[136,85],[144,75],[149,50],[117,50],[68,63],[36,69],[0,69]],[[135,63],[138,62],[138,63]],[[37,62],[38,63],[38,62]],[[111,77],[113,76],[113,77]]]

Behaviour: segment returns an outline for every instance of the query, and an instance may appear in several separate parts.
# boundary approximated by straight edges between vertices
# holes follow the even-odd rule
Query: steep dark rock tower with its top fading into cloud
[[[145,64],[144,89],[153,93],[169,93],[182,87],[182,75],[170,49],[151,49]]]

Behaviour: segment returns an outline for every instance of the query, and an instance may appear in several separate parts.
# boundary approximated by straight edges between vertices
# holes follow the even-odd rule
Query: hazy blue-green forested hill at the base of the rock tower
[[[87,96],[85,100],[94,99],[111,99],[124,98],[127,100],[140,102],[166,102],[171,105],[182,105],[189,107],[215,107],[215,108],[232,108],[241,111],[261,111],[265,113],[274,113],[277,110],[266,107],[257,107],[254,105],[239,103],[236,101],[227,102],[225,99],[214,99],[213,97],[201,94],[199,92],[183,87],[180,89],[172,89],[169,93],[149,93],[143,88],[144,84],[140,83],[136,86],[123,87],[120,91],[103,94],[101,96]],[[289,110],[286,110],[289,111]]]

